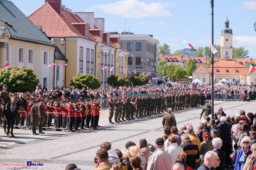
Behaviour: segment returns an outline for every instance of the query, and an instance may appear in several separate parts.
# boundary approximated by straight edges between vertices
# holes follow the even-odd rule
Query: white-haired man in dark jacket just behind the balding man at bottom
[[[218,154],[218,157],[220,158],[220,165],[216,168],[216,170],[224,170],[224,164],[226,160],[226,153],[221,150],[222,147],[222,139],[215,138],[212,140],[212,147],[214,152]]]

